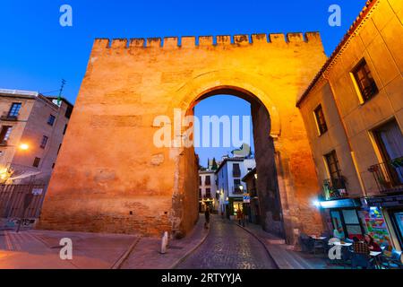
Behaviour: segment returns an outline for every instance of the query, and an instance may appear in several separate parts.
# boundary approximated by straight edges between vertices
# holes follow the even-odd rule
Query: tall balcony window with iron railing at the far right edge
[[[381,192],[403,191],[403,135],[396,120],[373,130],[383,162],[369,168]]]

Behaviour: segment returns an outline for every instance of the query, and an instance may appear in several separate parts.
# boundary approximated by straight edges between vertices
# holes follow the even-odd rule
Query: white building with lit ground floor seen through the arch
[[[238,209],[244,209],[246,186],[241,179],[255,166],[254,159],[223,158],[216,171],[220,213],[226,213],[231,218]]]

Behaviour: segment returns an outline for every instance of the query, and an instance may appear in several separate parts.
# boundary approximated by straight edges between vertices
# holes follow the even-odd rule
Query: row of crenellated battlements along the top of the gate
[[[286,45],[306,43],[322,45],[319,32],[271,33],[252,35],[185,36],[139,39],[95,39],[94,48],[195,48],[206,46]]]

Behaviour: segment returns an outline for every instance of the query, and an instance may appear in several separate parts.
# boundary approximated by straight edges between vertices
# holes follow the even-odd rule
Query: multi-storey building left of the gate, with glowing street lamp
[[[64,99],[0,89],[0,182],[47,185],[72,112]]]

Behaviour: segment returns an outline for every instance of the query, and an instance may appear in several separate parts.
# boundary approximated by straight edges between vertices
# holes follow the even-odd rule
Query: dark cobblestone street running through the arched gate
[[[275,269],[262,243],[236,226],[214,216],[206,241],[177,269]]]

